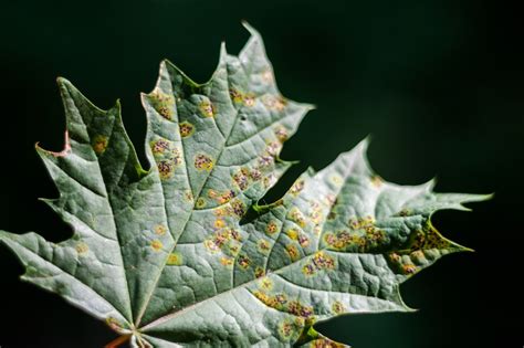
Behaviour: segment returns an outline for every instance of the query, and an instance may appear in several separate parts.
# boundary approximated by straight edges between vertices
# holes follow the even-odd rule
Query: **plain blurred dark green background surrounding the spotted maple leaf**
[[[2,1],[0,228],[60,241],[70,231],[36,197],[57,193],[33,151],[59,150],[63,113],[54,78],[95,104],[122,98],[139,152],[149,92],[168,57],[193,80],[211,75],[219,44],[237,53],[258,28],[281,91],[318,109],[287,143],[301,159],[270,192],[307,166],[322,168],[373,135],[369,157],[387,180],[438,191],[496,192],[474,212],[434,224],[476,250],[446,257],[402,286],[416,314],[342,317],[321,330],[355,347],[522,347],[522,10],[510,2],[404,1]],[[144,156],[143,156],[144,158]],[[101,347],[105,324],[20,283],[4,247],[0,346]]]

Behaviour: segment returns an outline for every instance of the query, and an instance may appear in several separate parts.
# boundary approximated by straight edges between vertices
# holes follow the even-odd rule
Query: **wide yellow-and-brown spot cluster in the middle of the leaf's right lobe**
[[[326,232],[324,242],[331,249],[353,252],[376,250],[388,242],[386,232],[375,226],[375,220],[371,217],[352,218],[348,224],[348,231]]]

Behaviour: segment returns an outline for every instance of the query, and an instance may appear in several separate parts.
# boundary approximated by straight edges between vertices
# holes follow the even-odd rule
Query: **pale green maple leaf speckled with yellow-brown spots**
[[[102,110],[59,78],[65,148],[36,147],[73,229],[62,243],[0,232],[23,281],[105,320],[134,347],[338,346],[313,324],[342,314],[409,312],[399,285],[467,249],[430,222],[488,196],[436,193],[433,182],[382,181],[364,140],[307,170],[269,205],[291,166],[280,159],[312,105],[283,97],[260,35],[239,56],[222,46],[197,84],[165,61],[147,113],[142,168],[117,103]],[[254,218],[243,219],[249,210]],[[342,346],[342,345],[339,345]]]

